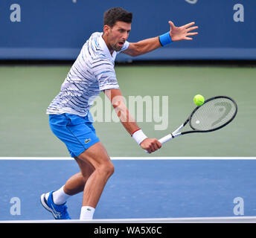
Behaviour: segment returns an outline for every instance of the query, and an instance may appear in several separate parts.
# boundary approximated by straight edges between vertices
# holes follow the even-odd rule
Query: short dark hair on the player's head
[[[112,28],[116,22],[132,23],[132,13],[127,12],[122,7],[112,7],[104,13],[104,25]]]

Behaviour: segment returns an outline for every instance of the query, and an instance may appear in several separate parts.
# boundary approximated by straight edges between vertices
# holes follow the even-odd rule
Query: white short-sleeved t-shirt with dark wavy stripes
[[[102,35],[102,32],[92,33],[83,45],[60,93],[48,106],[47,114],[70,113],[85,117],[100,91],[119,89],[114,68],[115,57],[129,47],[129,42],[124,43],[121,51],[114,51],[111,55]]]

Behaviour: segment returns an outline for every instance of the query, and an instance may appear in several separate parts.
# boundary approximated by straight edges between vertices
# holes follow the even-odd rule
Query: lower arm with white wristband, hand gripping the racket
[[[120,119],[122,125],[127,130],[129,135],[141,146],[142,149],[146,149],[147,152],[151,153],[161,148],[161,143],[156,138],[147,138],[142,130],[138,127],[135,119],[130,115],[126,104],[124,103],[124,97],[121,94],[120,89],[108,89],[104,93],[106,97],[112,103],[118,118]]]

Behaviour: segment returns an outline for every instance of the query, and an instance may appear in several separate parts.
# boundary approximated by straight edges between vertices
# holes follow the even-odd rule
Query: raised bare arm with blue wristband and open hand
[[[161,35],[149,39],[144,39],[139,42],[129,43],[129,48],[124,51],[124,54],[129,54],[132,57],[137,57],[141,54],[147,54],[150,51],[156,50],[161,46],[167,45],[170,42],[176,42],[180,40],[192,40],[191,36],[197,35],[198,32],[191,32],[196,30],[198,26],[195,22],[176,27],[173,22],[169,21],[170,31]]]

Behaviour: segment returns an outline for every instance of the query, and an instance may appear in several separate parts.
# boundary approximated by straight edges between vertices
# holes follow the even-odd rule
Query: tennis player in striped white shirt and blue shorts
[[[60,93],[48,106],[49,124],[54,135],[65,143],[71,157],[77,161],[80,173],[71,176],[59,190],[43,193],[41,202],[55,219],[71,219],[65,202],[83,192],[80,219],[92,219],[103,188],[114,173],[114,166],[105,147],[97,138],[89,112],[101,91],[109,97],[115,112],[129,135],[147,152],[161,148],[156,138],[148,138],[129,114],[115,75],[115,57],[124,53],[132,57],[179,40],[191,40],[196,35],[195,23],[176,27],[161,36],[139,42],[127,42],[132,13],[121,7],[106,10],[103,32],[92,33],[83,45],[77,60],[68,72]],[[192,27],[193,26],[193,27]]]

